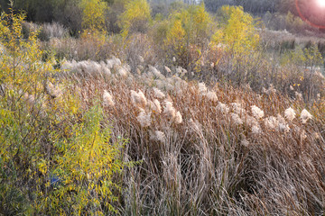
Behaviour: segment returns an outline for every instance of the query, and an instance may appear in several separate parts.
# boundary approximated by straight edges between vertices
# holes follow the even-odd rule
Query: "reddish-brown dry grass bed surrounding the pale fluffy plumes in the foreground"
[[[249,88],[215,84],[218,101],[241,103],[251,116],[251,105],[265,117],[283,115],[292,107],[298,116],[287,121],[290,130],[265,128],[255,134],[244,123],[236,125],[229,113],[218,111],[217,102],[200,95],[196,82],[181,88],[163,89],[181,112],[176,124],[163,113],[152,112],[151,126],[143,128],[136,117],[141,112],[130,91],[141,90],[154,99],[152,82],[142,76],[73,76],[84,106],[112,94],[115,106],[105,109],[112,127],[112,141],[127,138],[125,161],[141,161],[116,176],[123,184],[116,207],[123,215],[320,215],[325,202],[324,102],[313,106],[292,101],[281,94],[255,94]],[[180,79],[176,80],[180,81]],[[170,82],[170,79],[163,80]],[[158,99],[163,106],[163,99]],[[314,116],[307,124],[299,120],[306,108]],[[144,107],[143,107],[144,108]],[[148,108],[146,112],[149,112]],[[232,111],[230,111],[232,112]],[[152,139],[163,131],[164,141]]]

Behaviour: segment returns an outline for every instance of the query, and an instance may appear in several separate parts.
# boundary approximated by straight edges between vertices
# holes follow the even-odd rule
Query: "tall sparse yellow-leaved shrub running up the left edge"
[[[32,188],[44,176],[39,165],[47,146],[43,84],[48,82],[51,62],[40,62],[36,32],[23,40],[22,14],[2,14],[1,44],[1,212],[14,215],[32,211]],[[32,181],[31,181],[32,180]],[[4,186],[7,185],[7,186]]]

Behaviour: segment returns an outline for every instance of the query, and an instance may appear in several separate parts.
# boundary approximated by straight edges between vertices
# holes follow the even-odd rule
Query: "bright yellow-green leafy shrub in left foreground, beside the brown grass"
[[[117,158],[121,146],[109,143],[110,129],[102,128],[103,112],[99,106],[92,107],[82,121],[71,127],[69,137],[57,140],[61,154],[55,158],[52,173],[60,176],[61,183],[55,185],[57,190],[46,204],[58,211],[54,209],[60,209],[60,203],[74,202],[71,208],[78,215],[89,203],[93,212],[115,211],[110,204],[115,199],[111,188],[118,187],[112,182],[112,175],[123,168]]]

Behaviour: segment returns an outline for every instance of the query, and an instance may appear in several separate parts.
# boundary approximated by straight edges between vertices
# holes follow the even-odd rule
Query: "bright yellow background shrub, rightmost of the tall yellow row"
[[[218,67],[236,83],[249,82],[258,76],[254,67],[261,56],[256,23],[242,7],[223,6],[220,14],[221,28],[211,38],[211,45],[221,48],[225,56]]]

